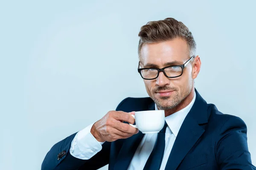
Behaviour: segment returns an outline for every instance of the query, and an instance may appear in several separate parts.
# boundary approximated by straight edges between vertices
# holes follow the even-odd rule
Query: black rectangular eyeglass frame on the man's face
[[[184,64],[182,64],[182,65],[170,65],[170,66],[167,66],[167,67],[164,67],[164,68],[150,68],[150,69],[155,69],[155,70],[157,70],[157,77],[159,76],[159,73],[160,73],[161,71],[163,72],[163,74],[164,74],[166,77],[168,77],[167,74],[166,74],[166,72],[164,71],[165,68],[181,67],[181,74],[180,74],[179,76],[168,77],[168,78],[180,77],[180,76],[183,74],[183,69],[186,67],[186,65],[191,61],[191,59],[192,59],[193,57],[195,57],[195,56],[193,55],[189,60],[187,60],[187,61],[186,61]],[[138,72],[140,73],[140,76],[141,76],[143,79],[146,79],[146,78],[144,78],[144,77],[142,76],[141,71],[142,71],[142,70],[145,70],[145,69],[149,69],[149,68],[140,68],[140,62],[139,62],[139,65],[138,65]],[[157,78],[157,77],[156,77],[156,78]],[[154,78],[154,79],[156,79],[156,78]],[[152,80],[152,79],[146,79],[146,80]]]

